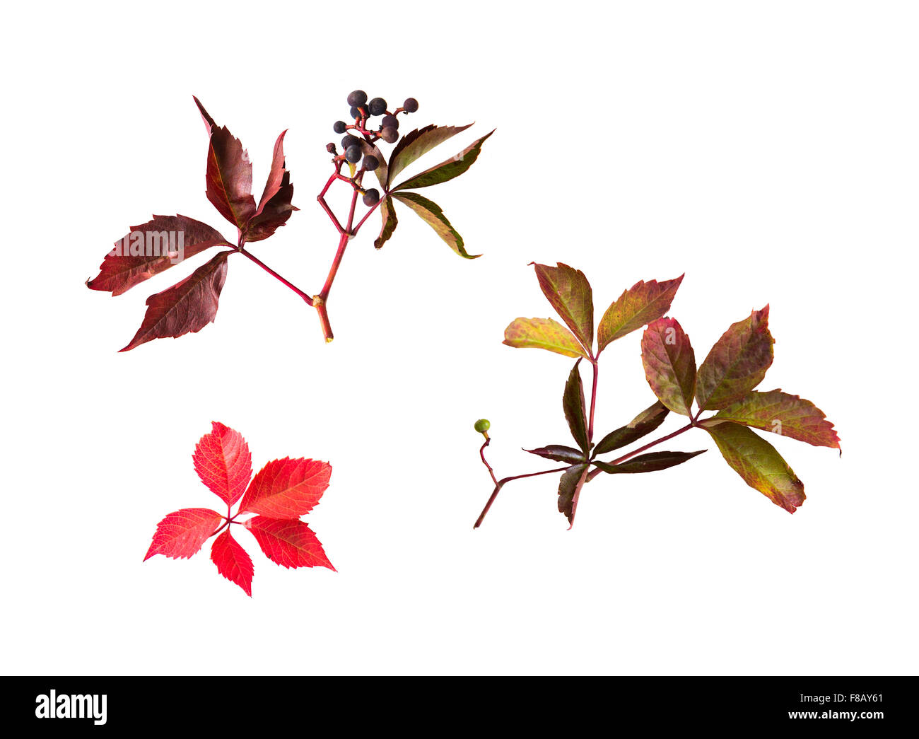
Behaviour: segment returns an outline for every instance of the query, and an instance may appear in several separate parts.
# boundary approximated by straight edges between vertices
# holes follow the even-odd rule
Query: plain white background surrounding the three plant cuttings
[[[384,6],[6,9],[3,671],[914,674],[914,6]],[[301,212],[253,251],[316,292],[336,242],[314,201],[324,144],[355,87],[417,97],[417,126],[477,121],[426,165],[497,128],[425,191],[484,256],[406,209],[376,253],[374,215],[331,345],[233,257],[215,324],[117,353],[188,270],[86,290],[111,243],[153,212],[233,235],[192,94],[248,148],[256,194],[289,129]],[[597,316],[686,272],[672,314],[699,361],[771,303],[761,389],[818,404],[842,459],[770,436],[806,484],[792,517],[693,432],[669,448],[707,454],[598,478],[570,531],[555,475],[509,485],[473,531],[491,492],[476,418],[499,475],[551,466],[520,448],[567,438],[570,360],[501,343],[550,315],[533,260],[583,269]],[[639,341],[604,354],[598,434],[652,402]],[[245,532],[251,599],[207,548],[142,563],[166,513],[219,503],[191,463],[211,420],[256,469],[331,461],[307,520],[337,574],[279,568]]]

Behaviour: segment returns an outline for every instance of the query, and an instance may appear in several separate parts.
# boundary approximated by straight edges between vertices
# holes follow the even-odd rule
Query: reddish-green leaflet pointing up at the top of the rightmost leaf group
[[[702,410],[726,408],[754,389],[772,364],[774,339],[769,333],[769,306],[754,311],[721,335],[696,377],[696,399]]]

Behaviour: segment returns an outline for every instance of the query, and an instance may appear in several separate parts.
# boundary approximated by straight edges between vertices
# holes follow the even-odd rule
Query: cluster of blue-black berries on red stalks
[[[344,120],[336,120],[332,126],[335,133],[345,133],[341,141],[342,153],[338,153],[334,143],[328,145],[330,153],[335,154],[333,164],[335,171],[338,172],[341,165],[345,162],[352,166],[352,174],[355,172],[357,163],[361,162],[361,168],[357,175],[351,180],[352,184],[363,195],[364,205],[369,207],[375,206],[380,202],[380,191],[377,188],[364,189],[361,187],[361,179],[364,172],[373,172],[380,166],[380,158],[373,151],[372,145],[378,140],[387,143],[395,143],[399,140],[399,119],[400,113],[414,113],[418,109],[418,101],[414,97],[406,98],[401,108],[389,111],[386,100],[382,97],[374,97],[368,100],[367,93],[363,90],[355,90],[347,97],[347,104],[351,107],[351,118],[354,123],[346,123]],[[369,119],[375,116],[382,116],[380,119],[380,128],[376,131],[369,129]],[[347,133],[346,131],[352,131]],[[359,135],[355,135],[359,134]]]

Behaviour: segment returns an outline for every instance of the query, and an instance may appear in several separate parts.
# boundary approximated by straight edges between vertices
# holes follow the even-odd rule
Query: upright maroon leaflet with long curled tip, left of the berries
[[[249,161],[249,154],[226,126],[218,127],[197,97],[195,103],[210,131],[208,199],[227,221],[242,231],[249,219],[255,215],[252,163]]]

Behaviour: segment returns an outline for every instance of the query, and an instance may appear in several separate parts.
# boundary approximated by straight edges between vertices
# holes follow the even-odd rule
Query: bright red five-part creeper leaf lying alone
[[[301,520],[319,503],[329,486],[332,467],[323,461],[285,457],[269,461],[252,476],[252,455],[243,436],[216,421],[200,438],[192,458],[195,472],[227,506],[226,514],[210,508],[182,508],[156,525],[144,562],[154,554],[183,559],[216,537],[210,559],[217,571],[252,596],[252,559],[230,529],[248,529],[269,560],[283,567],[328,567],[323,545]],[[241,500],[242,499],[242,500]],[[239,508],[233,514],[233,506]],[[255,516],[236,520],[244,513]]]

